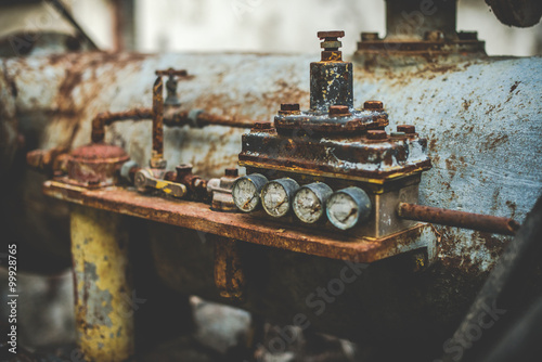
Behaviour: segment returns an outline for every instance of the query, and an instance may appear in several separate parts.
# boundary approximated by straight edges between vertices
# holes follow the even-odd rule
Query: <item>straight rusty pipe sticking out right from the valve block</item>
[[[425,221],[503,235],[515,235],[519,229],[519,223],[508,218],[406,203],[399,203],[397,214],[399,217],[408,220]]]

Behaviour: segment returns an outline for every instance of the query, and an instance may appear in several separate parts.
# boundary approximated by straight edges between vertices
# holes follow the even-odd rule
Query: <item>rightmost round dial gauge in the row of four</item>
[[[365,222],[371,215],[371,199],[360,188],[343,189],[326,203],[327,219],[340,230],[348,230]]]

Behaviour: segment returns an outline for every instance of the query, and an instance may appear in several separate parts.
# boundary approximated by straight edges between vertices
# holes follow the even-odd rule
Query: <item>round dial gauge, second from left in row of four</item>
[[[268,182],[261,190],[261,204],[267,214],[280,218],[289,211],[292,201],[299,184],[293,179],[279,179]]]

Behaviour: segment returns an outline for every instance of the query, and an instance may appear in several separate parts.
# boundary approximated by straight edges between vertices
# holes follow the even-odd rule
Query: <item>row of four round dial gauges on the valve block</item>
[[[260,173],[238,178],[233,184],[233,201],[243,212],[263,207],[274,218],[291,210],[305,223],[327,220],[340,230],[365,222],[371,215],[371,199],[360,188],[336,192],[323,182],[300,186],[289,178],[269,181]]]

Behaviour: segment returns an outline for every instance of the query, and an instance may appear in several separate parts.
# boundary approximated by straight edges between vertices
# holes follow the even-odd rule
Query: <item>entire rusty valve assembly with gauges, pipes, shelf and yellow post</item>
[[[240,302],[250,298],[245,292],[242,242],[366,263],[413,253],[417,268],[424,269],[437,258],[439,234],[420,221],[516,232],[518,224],[512,219],[416,205],[422,174],[431,167],[427,140],[412,125],[399,125],[388,133],[388,114],[379,101],[356,108],[353,66],[339,51],[344,33],[318,36],[324,50],[321,61],[310,65],[309,111],[282,104],[273,124],[186,111],[177,96],[176,77],[189,77],[188,73],[158,70],[152,109],[98,115],[91,143],[68,154],[28,154],[30,165],[54,176],[43,185],[46,194],[79,204],[72,210],[72,251],[78,341],[89,359],[107,355],[120,361],[134,350],[132,319],[88,308],[106,302],[118,310],[122,293],[130,289],[120,215],[216,235],[216,287],[222,297]],[[169,77],[166,101],[164,76]],[[121,147],[104,143],[108,125],[149,118],[149,167],[129,160]],[[243,135],[238,155],[246,176],[225,169],[219,179],[205,179],[185,164],[168,171],[165,124],[251,128]]]

